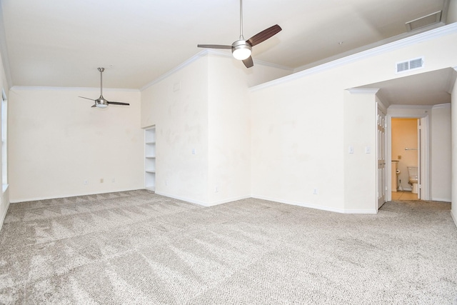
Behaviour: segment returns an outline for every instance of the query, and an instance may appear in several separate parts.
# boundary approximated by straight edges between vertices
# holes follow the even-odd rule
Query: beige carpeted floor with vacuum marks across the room
[[[0,304],[457,304],[450,209],[202,207],[144,190],[11,204]]]

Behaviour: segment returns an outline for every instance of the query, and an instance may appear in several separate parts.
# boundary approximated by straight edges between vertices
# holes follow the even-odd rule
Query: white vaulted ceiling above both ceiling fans
[[[96,87],[104,66],[104,86],[139,89],[202,51],[197,44],[239,36],[238,0],[0,1],[13,86]],[[244,0],[243,33],[279,24],[283,31],[253,47],[254,64],[299,70],[404,34],[407,21],[443,3]]]

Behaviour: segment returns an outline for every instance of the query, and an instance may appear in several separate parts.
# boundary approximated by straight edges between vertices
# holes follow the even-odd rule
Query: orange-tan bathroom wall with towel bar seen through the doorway
[[[392,160],[398,160],[401,186],[405,191],[411,191],[408,184],[408,166],[418,166],[418,151],[405,148],[418,148],[417,119],[392,119]]]

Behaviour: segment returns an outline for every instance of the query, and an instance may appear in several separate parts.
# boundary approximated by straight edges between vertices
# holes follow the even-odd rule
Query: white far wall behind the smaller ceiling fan
[[[140,92],[106,89],[106,99],[131,105],[106,109],[78,96],[99,91],[10,90],[11,202],[144,188]]]

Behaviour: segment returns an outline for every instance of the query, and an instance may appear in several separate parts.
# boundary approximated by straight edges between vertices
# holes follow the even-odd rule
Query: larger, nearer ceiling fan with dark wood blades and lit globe
[[[243,61],[243,64],[246,68],[251,68],[253,66],[253,61],[251,57],[252,47],[256,44],[260,44],[266,39],[271,38],[278,34],[281,31],[281,26],[278,24],[270,26],[268,29],[264,29],[260,33],[252,36],[250,39],[246,40],[243,37],[243,0],[240,0],[240,38],[233,42],[231,46],[224,46],[220,44],[198,44],[199,48],[209,48],[209,49],[231,49],[233,57],[238,60]]]

